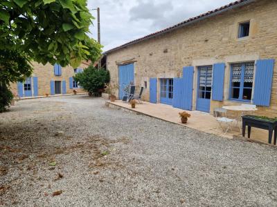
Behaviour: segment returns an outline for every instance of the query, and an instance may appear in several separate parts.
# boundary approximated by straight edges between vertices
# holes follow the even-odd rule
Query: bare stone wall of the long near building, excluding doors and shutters
[[[277,61],[277,1],[254,1],[197,23],[145,39],[125,48],[107,52],[107,69],[111,81],[118,83],[118,63],[134,63],[135,84],[142,85],[150,77],[182,76],[184,66],[194,66],[193,110],[197,99],[197,67],[225,63],[224,101],[211,100],[213,108],[241,104],[229,100],[231,63],[275,59]],[[250,21],[249,37],[238,39],[239,24]],[[276,117],[277,63],[274,66],[271,104],[259,107],[258,113]],[[254,83],[255,84],[255,83]],[[157,98],[159,102],[159,81]],[[144,99],[149,101],[149,87]]]

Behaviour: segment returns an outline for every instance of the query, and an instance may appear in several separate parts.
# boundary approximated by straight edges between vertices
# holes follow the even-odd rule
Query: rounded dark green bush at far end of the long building
[[[74,80],[89,93],[98,93],[105,83],[109,83],[109,71],[94,68],[92,65],[84,69],[84,72],[75,75]]]

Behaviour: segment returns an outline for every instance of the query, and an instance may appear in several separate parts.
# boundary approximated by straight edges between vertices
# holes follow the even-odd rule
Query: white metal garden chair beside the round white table
[[[230,130],[230,127],[235,122],[235,119],[229,119],[227,118],[227,110],[224,108],[215,108],[215,118],[217,123],[219,124],[220,128],[222,128],[224,135],[226,135],[226,132]],[[219,116],[220,114],[220,116]],[[222,116],[223,115],[223,116]],[[226,126],[226,127],[224,127]]]

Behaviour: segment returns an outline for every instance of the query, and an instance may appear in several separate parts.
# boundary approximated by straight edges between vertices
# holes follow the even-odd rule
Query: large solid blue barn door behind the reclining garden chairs
[[[123,99],[125,88],[134,85],[134,63],[118,66],[119,99]]]

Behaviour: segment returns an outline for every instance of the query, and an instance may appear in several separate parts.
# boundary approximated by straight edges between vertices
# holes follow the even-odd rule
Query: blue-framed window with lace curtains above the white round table
[[[254,62],[231,65],[231,99],[251,100],[254,66]]]

